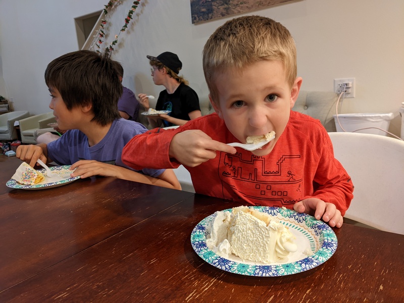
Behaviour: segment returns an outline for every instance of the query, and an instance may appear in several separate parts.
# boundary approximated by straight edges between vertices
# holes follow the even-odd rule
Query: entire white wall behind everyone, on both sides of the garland
[[[103,9],[107,2],[0,1],[0,94],[13,97],[16,110],[49,111],[43,80],[46,65],[78,49],[73,19]],[[123,0],[110,13],[112,37],[119,33],[132,3]],[[341,112],[394,112],[390,131],[399,135],[404,1],[300,0],[249,14],[268,16],[290,30],[297,44],[302,89],[332,91],[334,78],[355,77],[356,97],[345,99]],[[163,87],[151,81],[146,55],[171,51],[183,62],[181,73],[190,86],[206,98],[202,48],[210,34],[234,16],[192,25],[189,0],[141,1],[133,16],[113,53],[125,68],[123,84],[135,93],[158,95]]]

